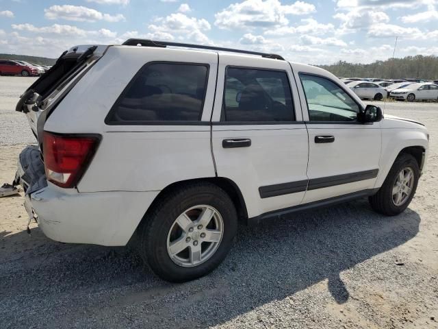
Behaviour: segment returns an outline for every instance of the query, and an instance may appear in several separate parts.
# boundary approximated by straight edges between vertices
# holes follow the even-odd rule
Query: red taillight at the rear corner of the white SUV
[[[100,139],[99,135],[44,132],[42,151],[47,180],[57,186],[75,187],[90,164]]]

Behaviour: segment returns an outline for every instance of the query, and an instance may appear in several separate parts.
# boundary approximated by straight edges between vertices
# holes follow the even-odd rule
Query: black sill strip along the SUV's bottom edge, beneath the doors
[[[368,190],[363,190],[355,193],[349,193],[345,195],[339,195],[338,197],[331,197],[329,199],[318,200],[315,202],[309,202],[308,204],[300,204],[298,206],[293,206],[289,208],[283,208],[279,210],[274,210],[270,212],[265,212],[259,216],[250,217],[247,219],[248,226],[257,226],[262,221],[266,221],[267,219],[281,219],[281,217],[285,215],[289,215],[292,212],[301,211],[301,210],[309,210],[313,208],[322,208],[325,206],[333,206],[334,204],[341,204],[343,202],[348,202],[353,199],[359,199],[361,197],[368,197],[370,195],[376,194],[378,188],[370,188]]]

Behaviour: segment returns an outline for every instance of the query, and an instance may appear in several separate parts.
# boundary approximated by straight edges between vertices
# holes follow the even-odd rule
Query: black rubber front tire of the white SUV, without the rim
[[[402,169],[410,169],[413,174],[413,184],[409,196],[402,202],[396,204],[393,195],[393,189],[396,188],[396,182]],[[403,212],[411,203],[415,191],[417,190],[418,180],[420,178],[420,169],[417,160],[411,154],[400,154],[389,170],[387,178],[375,195],[368,198],[372,208],[383,215],[395,216]],[[406,194],[406,193],[404,193]]]

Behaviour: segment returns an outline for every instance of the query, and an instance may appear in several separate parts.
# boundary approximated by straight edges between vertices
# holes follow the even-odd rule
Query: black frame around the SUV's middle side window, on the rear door
[[[246,69],[246,70],[257,70],[257,71],[270,71],[270,72],[282,72],[285,73],[287,84],[289,86],[291,99],[291,110],[293,115],[292,121],[225,121],[225,93],[227,86],[227,71],[228,69]],[[294,93],[291,86],[291,81],[287,70],[283,69],[270,69],[266,67],[257,66],[242,66],[242,65],[227,65],[224,69],[224,86],[222,89],[222,106],[220,107],[220,121],[211,122],[212,125],[296,125],[302,124],[304,121],[296,121],[296,108],[294,105]]]

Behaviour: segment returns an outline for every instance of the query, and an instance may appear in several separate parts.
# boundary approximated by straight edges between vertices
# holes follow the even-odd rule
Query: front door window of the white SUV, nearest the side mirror
[[[356,121],[359,105],[335,82],[300,73],[310,121]]]

